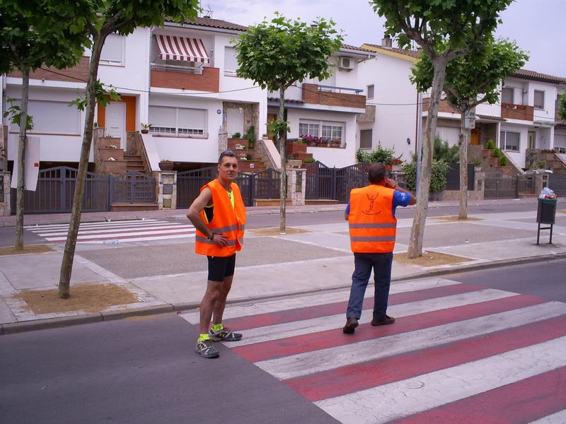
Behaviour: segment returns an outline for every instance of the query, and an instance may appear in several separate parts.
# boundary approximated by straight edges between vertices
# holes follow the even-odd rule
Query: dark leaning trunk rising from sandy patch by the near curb
[[[76,237],[79,234],[79,224],[81,223],[81,208],[83,206],[84,181],[88,168],[88,155],[91,152],[93,139],[94,108],[96,105],[96,81],[98,78],[98,61],[100,52],[106,35],[98,35],[93,40],[93,52],[91,64],[88,69],[88,83],[86,84],[86,108],[83,131],[83,143],[81,146],[81,156],[79,159],[79,174],[76,177],[75,194],[73,197],[73,208],[71,211],[71,222],[67,233],[67,242],[61,263],[61,273],[59,274],[59,299],[68,299],[69,285],[71,283],[71,271],[73,269],[73,259],[75,255]]]

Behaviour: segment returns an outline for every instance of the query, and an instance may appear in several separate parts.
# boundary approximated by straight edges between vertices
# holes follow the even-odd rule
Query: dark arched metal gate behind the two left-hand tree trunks
[[[79,170],[66,166],[40,170],[35,192],[24,190],[24,213],[67,213],[73,207]],[[11,189],[11,213],[16,213],[16,189]],[[108,211],[108,175],[86,172],[83,212]]]

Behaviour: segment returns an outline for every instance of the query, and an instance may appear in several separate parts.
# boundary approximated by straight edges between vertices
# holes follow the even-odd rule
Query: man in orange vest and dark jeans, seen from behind
[[[374,317],[371,325],[393,324],[389,317],[387,300],[391,284],[391,264],[395,248],[397,219],[395,208],[417,203],[407,190],[399,187],[394,179],[386,177],[383,163],[369,165],[369,185],[352,189],[345,218],[350,224],[350,245],[354,252],[354,273],[350,300],[346,310],[345,334],[353,334],[362,316],[362,303],[374,270],[375,297]]]

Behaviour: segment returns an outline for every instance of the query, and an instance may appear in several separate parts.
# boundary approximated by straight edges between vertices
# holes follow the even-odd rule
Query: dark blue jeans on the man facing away
[[[389,285],[391,284],[391,264],[393,252],[389,253],[354,253],[354,273],[352,274],[352,288],[346,317],[362,317],[362,304],[364,294],[374,270],[375,297],[374,319],[383,319],[387,312]]]

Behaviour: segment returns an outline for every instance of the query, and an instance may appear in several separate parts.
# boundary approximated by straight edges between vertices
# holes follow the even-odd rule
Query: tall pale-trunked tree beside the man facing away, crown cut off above
[[[422,175],[417,210],[412,223],[407,256],[422,255],[422,237],[427,219],[432,172],[432,148],[437,130],[446,64],[469,52],[469,46],[492,37],[499,12],[512,0],[372,0],[374,11],[386,18],[385,34],[398,38],[400,47],[413,40],[432,61],[433,78],[422,148]]]

